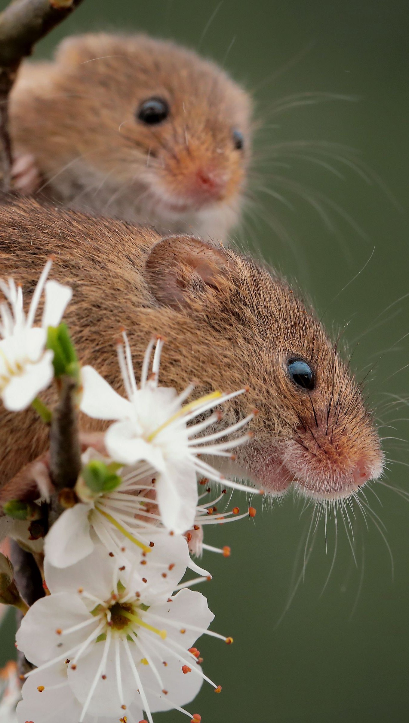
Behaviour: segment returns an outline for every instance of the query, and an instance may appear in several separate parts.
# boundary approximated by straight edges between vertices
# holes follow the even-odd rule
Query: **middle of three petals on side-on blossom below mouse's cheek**
[[[158,472],[166,469],[162,451],[141,437],[136,437],[132,422],[111,424],[105,434],[105,447],[108,454],[117,462],[135,464],[145,460]]]

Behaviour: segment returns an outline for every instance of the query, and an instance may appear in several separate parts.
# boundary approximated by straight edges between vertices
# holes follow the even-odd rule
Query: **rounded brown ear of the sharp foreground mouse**
[[[151,293],[168,307],[189,306],[195,300],[227,288],[232,261],[221,249],[191,236],[162,239],[151,250],[145,278]]]

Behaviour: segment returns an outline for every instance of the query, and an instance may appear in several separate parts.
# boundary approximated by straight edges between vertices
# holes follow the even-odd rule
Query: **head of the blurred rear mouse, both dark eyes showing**
[[[110,184],[129,184],[147,221],[223,231],[237,220],[250,98],[223,70],[145,35],[69,38],[56,61],[63,93],[75,84],[61,103],[71,106],[71,119],[74,108],[76,118],[88,119],[87,128],[77,127],[76,153],[110,174]]]

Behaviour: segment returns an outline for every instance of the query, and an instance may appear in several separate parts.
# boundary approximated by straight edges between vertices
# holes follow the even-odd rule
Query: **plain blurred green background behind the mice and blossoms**
[[[408,20],[407,0],[85,0],[37,56],[69,33],[145,30],[200,46],[254,91],[265,127],[253,183],[294,208],[255,190],[239,242],[296,279],[330,328],[348,324],[354,369],[364,375],[375,364],[368,390],[387,425],[381,433],[403,440],[384,441],[397,461],[386,482],[409,490],[408,404],[391,396],[408,394],[409,337],[400,341],[409,332],[409,299],[400,299],[409,292]],[[274,112],[281,98],[309,92],[353,100],[322,95]],[[292,145],[284,156],[279,144],[294,141],[315,145]],[[352,156],[371,168],[371,182],[349,165]],[[234,646],[201,641],[206,672],[223,685],[221,696],[203,687],[190,706],[203,723],[408,720],[409,504],[382,484],[367,498],[376,525],[351,512],[352,552],[339,515],[331,573],[335,523],[327,524],[326,552],[322,521],[307,541],[312,508],[303,511],[292,495],[260,509],[254,524],[210,531],[208,542],[230,544],[232,557],[205,555],[215,580],[203,591],[214,629],[232,635]],[[10,618],[8,632],[11,641]],[[3,660],[11,646],[1,649]]]

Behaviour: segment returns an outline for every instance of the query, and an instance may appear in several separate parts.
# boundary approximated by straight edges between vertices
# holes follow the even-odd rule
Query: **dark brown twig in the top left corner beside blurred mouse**
[[[14,0],[0,13],[0,161],[2,186],[9,191],[12,143],[9,134],[9,93],[22,59],[83,0]]]

